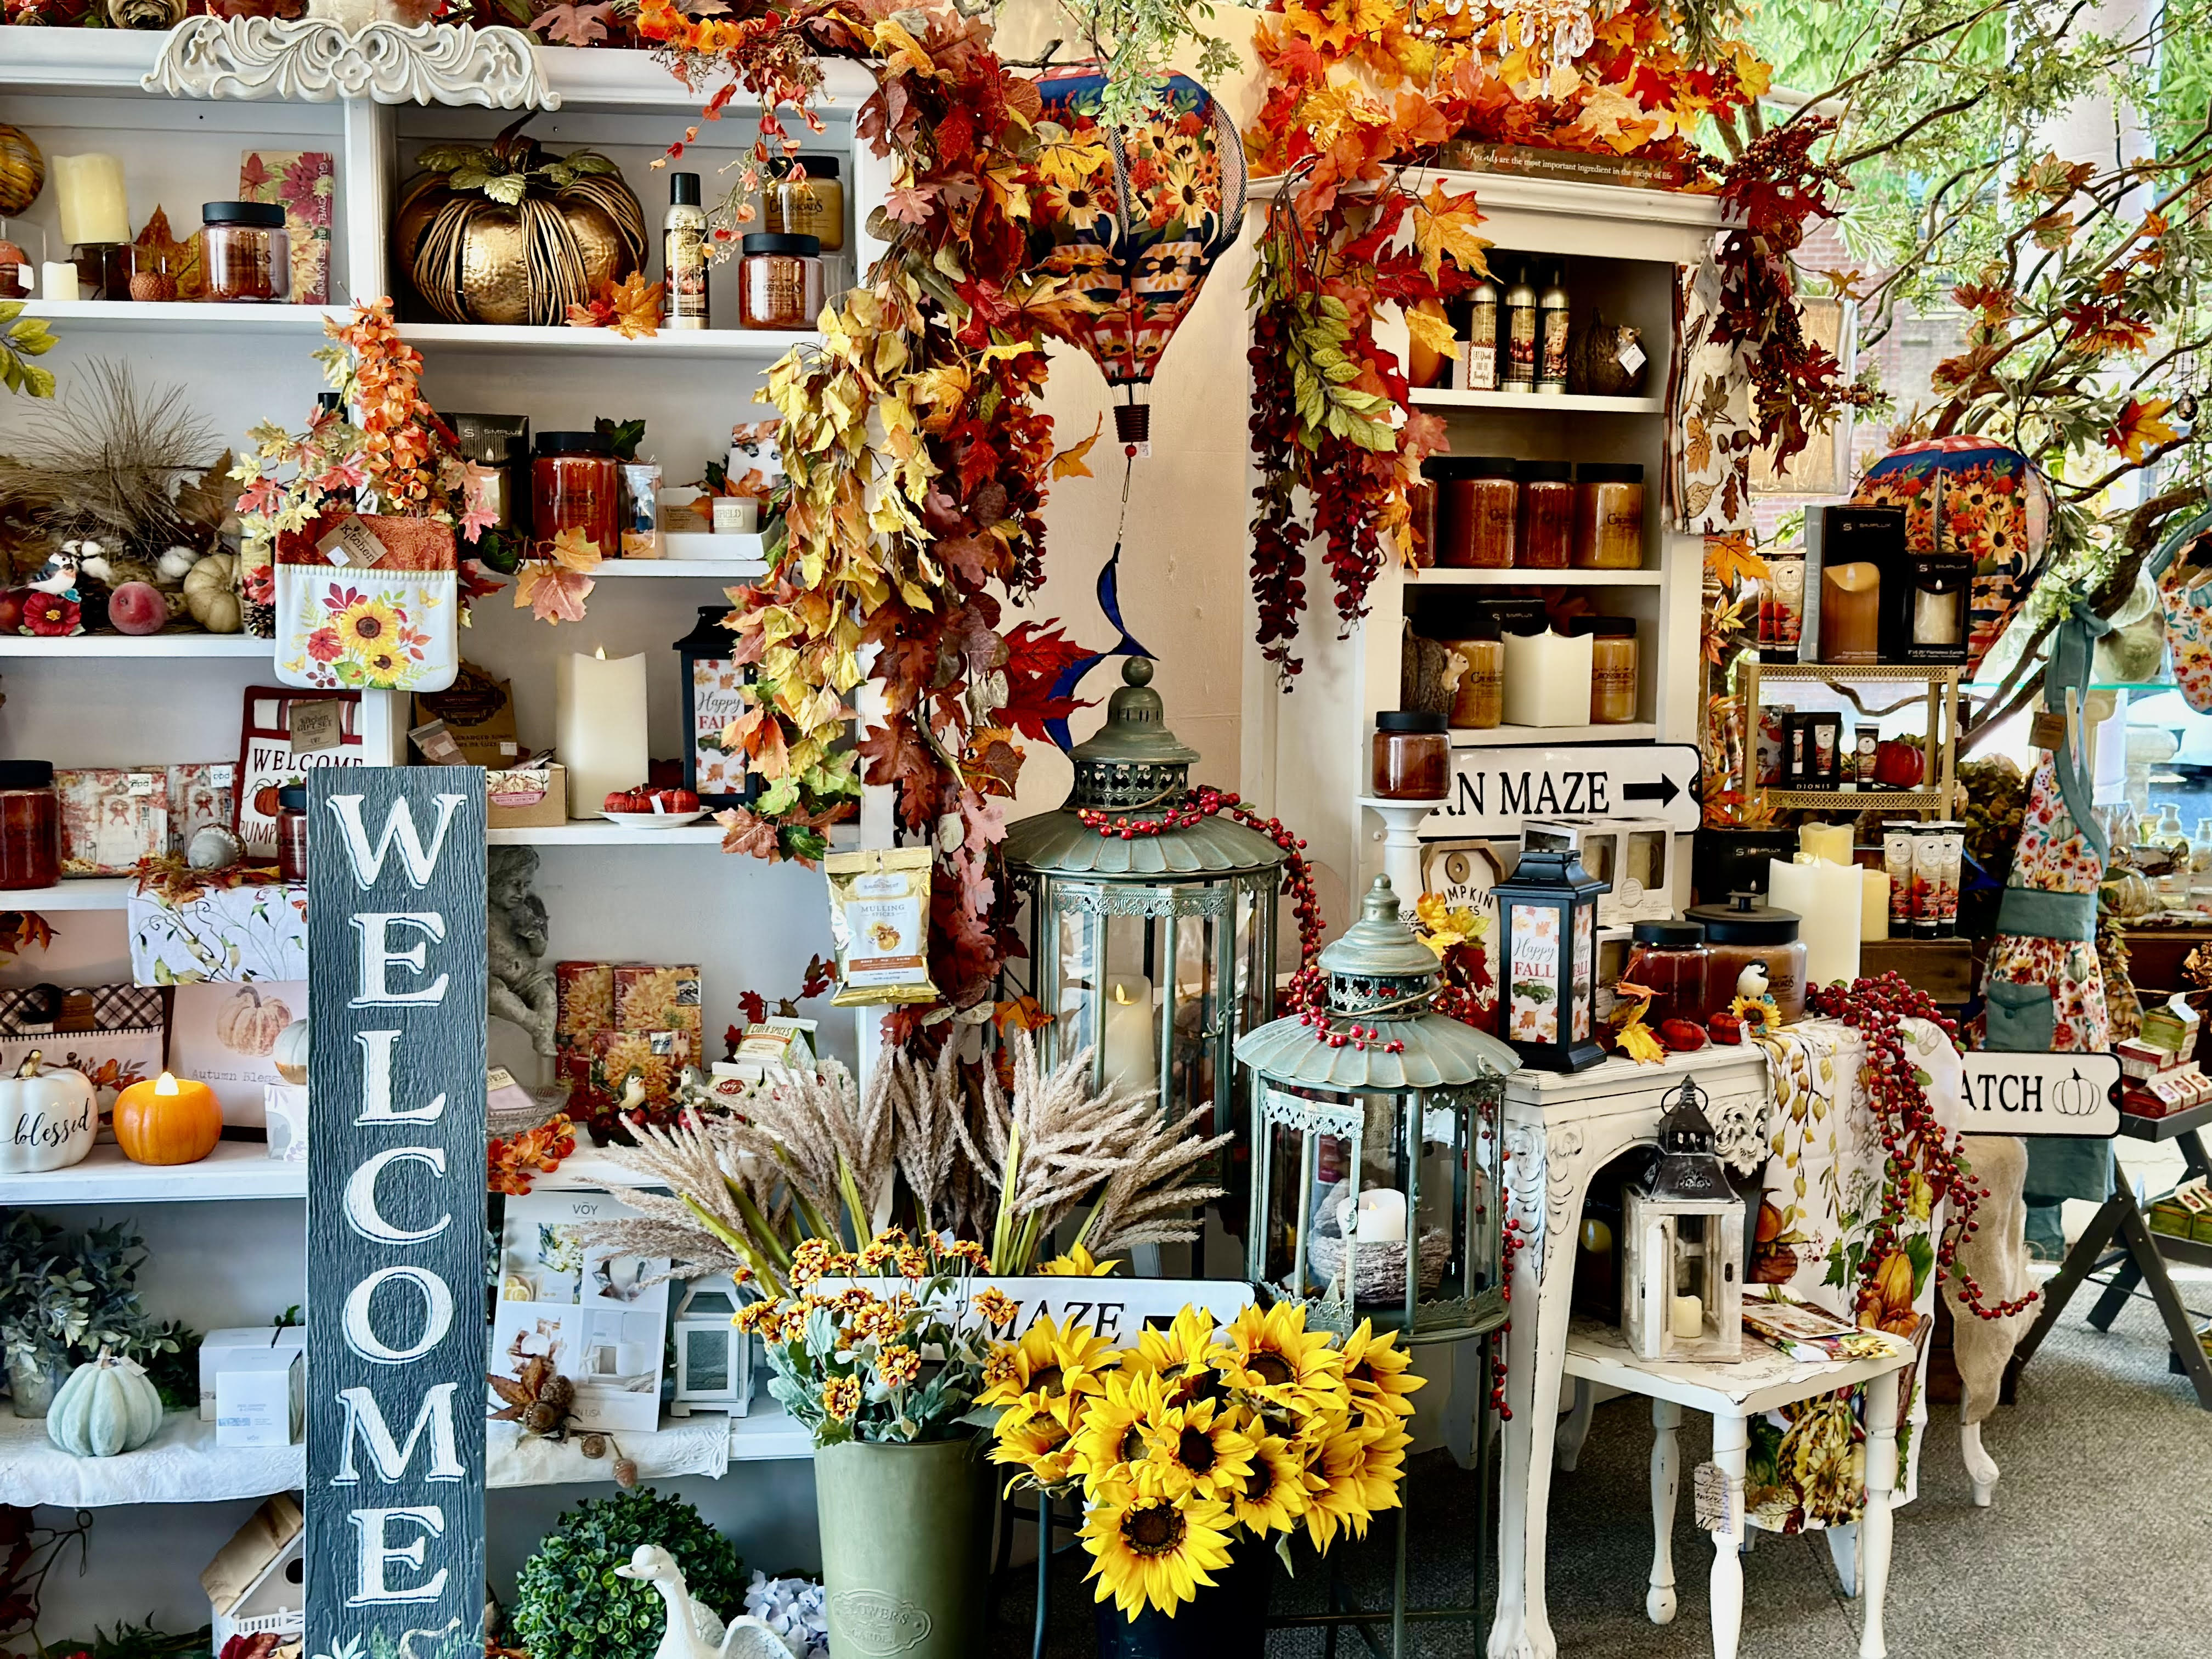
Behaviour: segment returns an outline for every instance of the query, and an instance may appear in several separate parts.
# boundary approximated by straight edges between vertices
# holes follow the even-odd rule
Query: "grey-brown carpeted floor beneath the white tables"
[[[2181,1281],[2199,1310],[2212,1279]],[[2166,1369],[2163,1327],[2132,1303],[2108,1336],[2066,1312],[2022,1378],[2020,1405],[1989,1422],[1984,1444],[2004,1469],[1993,1509],[1975,1509],[1958,1458],[1955,1420],[1938,1407],[1920,1462],[1920,1500],[1898,1513],[1889,1577],[1889,1652],[1898,1659],[2139,1659],[2212,1655],[2212,1413]],[[1690,1517],[1688,1482],[1674,1528],[1681,1613],[1644,1617],[1650,1568],[1650,1407],[1599,1407],[1582,1464],[1555,1475],[1551,1624],[1559,1659],[1697,1659],[1712,1652],[1705,1571],[1712,1546]],[[1683,1467],[1710,1451],[1708,1422],[1686,1418]],[[1413,1469],[1409,1604],[1464,1599],[1473,1568],[1473,1480],[1447,1458]],[[1340,1559],[1369,1595],[1387,1593],[1389,1528]],[[1493,1568],[1484,1551],[1484,1573]],[[1095,1652],[1088,1557],[1055,1562],[1055,1659]],[[1312,1575],[1307,1575],[1312,1579]],[[1858,1604],[1843,1599],[1827,1544],[1763,1535],[1743,1564],[1743,1659],[1851,1659]],[[1013,1575],[993,1659],[1029,1652],[1029,1573]],[[1316,1582],[1276,1573],[1274,1606],[1310,1606]],[[1484,1601],[1489,1590],[1484,1590]],[[1484,1652],[1480,1626],[1433,1626],[1409,1644],[1422,1659]],[[1387,1652],[1387,1646],[1383,1648]],[[1270,1659],[1321,1659],[1316,1632],[1276,1632]],[[1352,1635],[1347,1659],[1363,1655]]]

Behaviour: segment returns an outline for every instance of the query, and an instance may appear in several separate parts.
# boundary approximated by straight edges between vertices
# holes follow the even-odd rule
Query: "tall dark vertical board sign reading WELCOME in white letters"
[[[307,1652],[478,1650],[484,774],[307,772]]]

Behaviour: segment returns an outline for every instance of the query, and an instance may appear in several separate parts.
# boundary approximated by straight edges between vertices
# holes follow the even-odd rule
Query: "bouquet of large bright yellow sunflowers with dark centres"
[[[1172,1617],[1239,1542],[1290,1564],[1296,1533],[1325,1553],[1398,1506],[1409,1365],[1394,1334],[1338,1345],[1290,1303],[1225,1327],[1186,1307],[1121,1349],[1040,1318],[991,1349],[978,1405],[1000,1409],[993,1462],[1082,1498],[1097,1599]]]

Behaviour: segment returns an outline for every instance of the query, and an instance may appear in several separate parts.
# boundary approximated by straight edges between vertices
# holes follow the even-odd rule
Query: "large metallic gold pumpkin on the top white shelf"
[[[646,215],[615,164],[597,150],[549,155],[520,128],[491,148],[425,150],[400,192],[394,257],[451,323],[553,327],[602,283],[644,270]]]

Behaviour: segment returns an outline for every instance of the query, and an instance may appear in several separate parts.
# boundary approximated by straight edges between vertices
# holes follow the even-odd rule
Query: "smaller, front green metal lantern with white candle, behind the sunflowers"
[[[1261,1026],[1248,1270],[1316,1329],[1363,1318],[1409,1343],[1504,1323],[1504,1077],[1513,1048],[1431,1000],[1438,960],[1378,876],[1321,953],[1327,1018]]]

